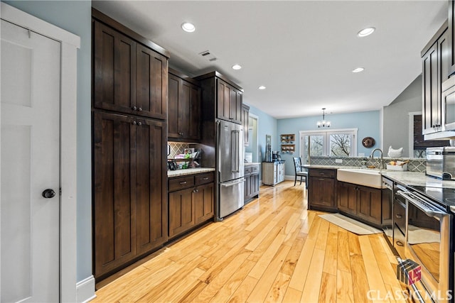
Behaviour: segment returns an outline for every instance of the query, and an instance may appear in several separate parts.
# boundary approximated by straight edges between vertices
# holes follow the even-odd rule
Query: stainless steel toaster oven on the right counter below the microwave
[[[455,181],[455,147],[427,148],[427,175]]]

